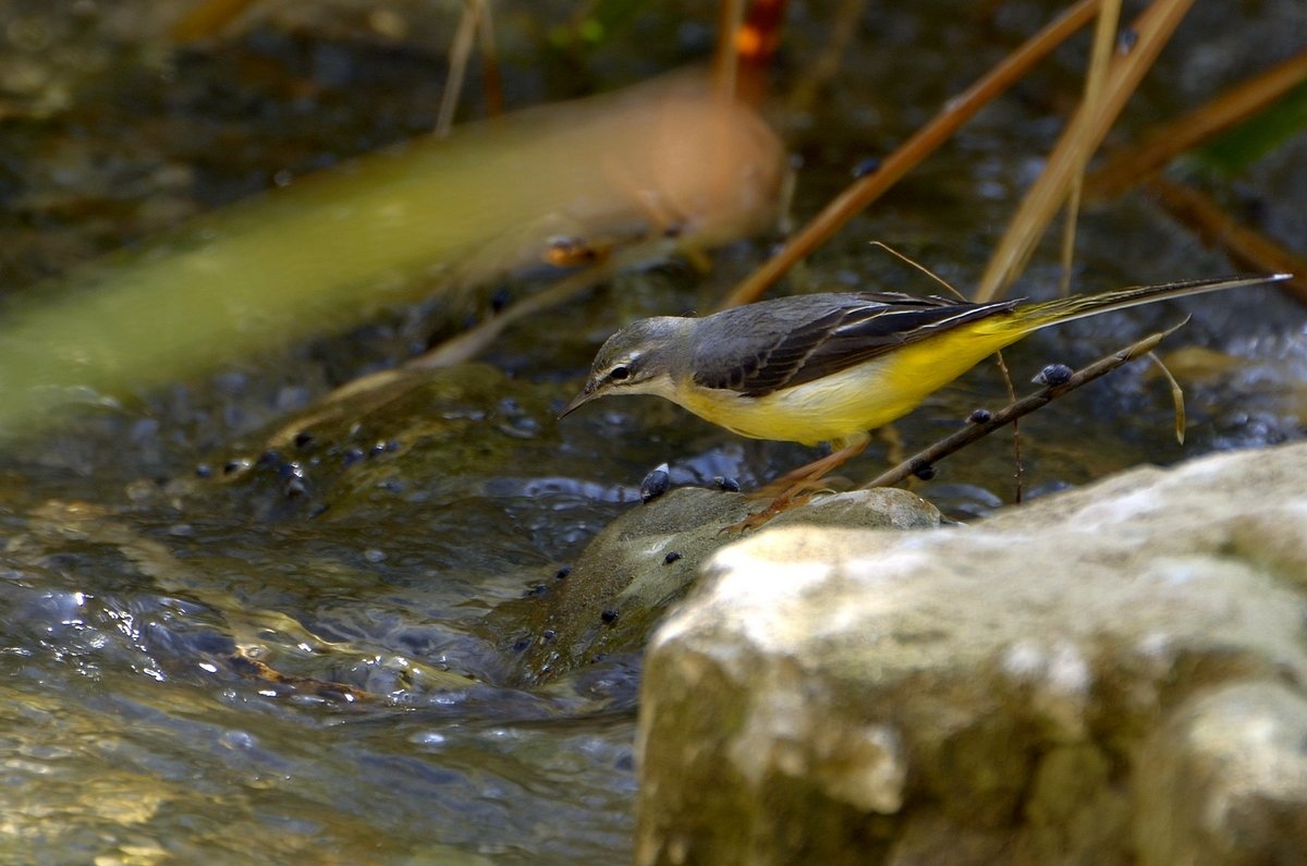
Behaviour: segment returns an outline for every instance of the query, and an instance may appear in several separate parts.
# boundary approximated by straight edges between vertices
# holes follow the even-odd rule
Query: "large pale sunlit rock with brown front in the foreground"
[[[635,862],[1302,862],[1304,530],[1294,445],[723,549],[646,657]]]

